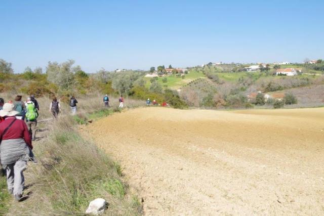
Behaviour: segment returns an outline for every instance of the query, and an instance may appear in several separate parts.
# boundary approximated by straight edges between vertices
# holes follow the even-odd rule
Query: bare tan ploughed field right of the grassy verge
[[[83,129],[146,215],[323,215],[324,109],[140,108]]]

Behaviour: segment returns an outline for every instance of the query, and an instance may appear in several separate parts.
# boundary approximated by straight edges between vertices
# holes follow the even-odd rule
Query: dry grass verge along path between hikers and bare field
[[[37,100],[41,107],[40,118],[50,117],[49,107],[45,108],[50,100]],[[99,96],[78,98],[79,112],[99,113],[99,117],[101,113],[113,112],[113,108],[109,112],[98,112],[104,108],[101,100]],[[126,102],[129,107],[142,103],[134,100]],[[62,105],[63,114],[69,113],[68,105]],[[91,140],[80,137],[75,117],[62,115],[57,121],[42,124],[41,127],[45,127],[42,129],[46,131],[38,132],[36,136],[45,137],[34,143],[33,150],[38,163],[29,163],[30,167],[25,171],[26,185],[30,186],[25,194],[29,193],[30,198],[20,203],[9,202],[8,211],[4,209],[0,214],[82,215],[89,202],[98,197],[105,198],[109,203],[105,211],[107,215],[142,214],[137,196],[121,178],[120,165]]]

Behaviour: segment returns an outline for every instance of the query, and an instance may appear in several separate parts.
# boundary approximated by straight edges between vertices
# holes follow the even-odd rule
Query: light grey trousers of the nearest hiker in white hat
[[[9,192],[13,190],[14,195],[21,194],[24,190],[25,178],[23,171],[26,170],[27,161],[17,161],[9,165],[5,165],[7,170],[7,185]]]

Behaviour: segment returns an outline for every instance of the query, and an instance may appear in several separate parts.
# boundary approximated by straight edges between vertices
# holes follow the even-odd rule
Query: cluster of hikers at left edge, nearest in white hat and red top
[[[39,110],[33,95],[25,102],[21,99],[22,96],[17,95],[14,102],[5,103],[0,98],[0,162],[7,175],[8,191],[17,201],[23,195],[23,171],[27,162],[35,161],[32,141],[35,140]]]

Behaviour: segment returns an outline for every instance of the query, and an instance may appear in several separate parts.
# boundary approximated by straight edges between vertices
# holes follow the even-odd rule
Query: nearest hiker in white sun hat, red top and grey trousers
[[[13,104],[5,103],[0,110],[0,116],[5,118],[0,124],[0,160],[7,172],[8,191],[20,201],[25,182],[23,171],[33,154],[27,125],[23,120],[16,119],[16,114],[18,111],[14,110]]]

